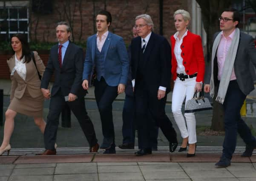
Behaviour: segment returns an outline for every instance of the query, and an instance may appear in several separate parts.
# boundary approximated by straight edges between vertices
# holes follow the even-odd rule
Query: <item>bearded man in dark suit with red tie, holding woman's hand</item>
[[[41,155],[55,155],[56,136],[60,112],[65,106],[65,101],[78,122],[89,142],[90,152],[99,149],[94,127],[90,120],[84,103],[86,91],[81,86],[83,73],[83,50],[69,41],[71,29],[66,22],[59,22],[56,27],[56,36],[59,44],[52,47],[49,61],[43,74],[41,91],[46,98],[51,97],[47,124],[44,132],[46,150]],[[52,74],[55,82],[52,92],[48,89]]]

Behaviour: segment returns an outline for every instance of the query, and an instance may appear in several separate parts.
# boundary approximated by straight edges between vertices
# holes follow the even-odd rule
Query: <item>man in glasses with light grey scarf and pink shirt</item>
[[[256,66],[256,48],[253,38],[237,28],[239,20],[239,12],[233,8],[225,10],[219,17],[221,32],[214,36],[211,78],[204,86],[204,92],[210,92],[211,97],[216,86],[216,101],[224,106],[225,138],[216,167],[230,166],[237,132],[246,143],[242,157],[252,156],[256,149],[256,139],[240,115],[246,95],[254,89],[249,69],[250,61]]]

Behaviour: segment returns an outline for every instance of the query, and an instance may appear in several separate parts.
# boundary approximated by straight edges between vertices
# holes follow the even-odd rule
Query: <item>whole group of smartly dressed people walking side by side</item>
[[[246,143],[242,156],[251,156],[256,149],[256,139],[239,112],[246,95],[254,89],[248,70],[250,61],[256,66],[256,48],[253,38],[237,28],[239,12],[230,8],[219,17],[221,31],[214,36],[212,67],[206,72],[209,76],[204,76],[201,37],[187,29],[191,19],[189,12],[180,9],[173,17],[177,32],[170,38],[171,46],[167,39],[153,32],[150,15],[135,17],[134,38],[127,53],[122,37],[108,31],[111,14],[100,11],[96,16],[97,33],[87,39],[85,59],[82,48],[69,41],[69,25],[59,22],[56,27],[58,44],[50,50],[46,67],[38,53],[30,51],[23,34],[14,34],[11,39],[14,55],[7,60],[12,88],[0,155],[11,150],[10,138],[17,113],[34,117],[43,133],[45,151],[40,155],[55,155],[59,116],[66,103],[81,125],[89,151],[97,153],[100,148],[105,154],[115,153],[112,103],[124,91],[127,95],[123,113],[127,116],[123,115],[124,139],[119,147],[134,149],[136,127],[139,150],[135,155],[151,154],[152,150],[157,150],[159,127],[169,142],[170,152],[174,152],[178,146],[177,134],[165,113],[172,77],[172,112],[182,137],[178,151],[186,151],[188,146],[187,157],[196,155],[196,118],[194,113],[183,115],[181,107],[184,100],[186,105],[187,100],[193,98],[194,92],[204,89],[224,105],[225,138],[216,166],[230,165],[237,132]],[[50,92],[53,74],[55,81]],[[204,77],[208,78],[204,80]],[[101,117],[101,145],[84,102],[92,79]],[[44,98],[51,98],[46,122],[43,120]]]

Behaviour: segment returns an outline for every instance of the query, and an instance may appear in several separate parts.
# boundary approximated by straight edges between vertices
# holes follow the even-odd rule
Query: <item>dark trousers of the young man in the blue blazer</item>
[[[112,103],[118,96],[118,86],[109,86],[103,77],[98,81],[95,79],[95,99],[101,116],[103,144],[109,145],[115,142],[115,130],[112,115]]]

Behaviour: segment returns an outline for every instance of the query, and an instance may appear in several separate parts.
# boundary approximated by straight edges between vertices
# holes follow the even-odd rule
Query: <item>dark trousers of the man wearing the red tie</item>
[[[83,97],[78,97],[75,101],[67,102],[69,108],[74,113],[75,117],[83,130],[89,146],[94,146],[98,140],[92,121],[90,120],[84,103]],[[59,90],[50,100],[49,114],[47,116],[46,128],[44,131],[44,144],[46,149],[54,150],[54,145],[57,138],[57,130],[59,125],[60,113],[65,106],[65,98]]]

